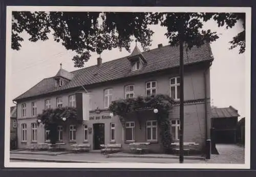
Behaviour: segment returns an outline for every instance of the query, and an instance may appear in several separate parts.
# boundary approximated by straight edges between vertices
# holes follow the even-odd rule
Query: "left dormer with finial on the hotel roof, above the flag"
[[[66,70],[62,69],[62,64],[60,63],[60,69],[58,73],[54,76],[56,80],[56,86],[63,86],[66,82],[69,82],[74,75]]]

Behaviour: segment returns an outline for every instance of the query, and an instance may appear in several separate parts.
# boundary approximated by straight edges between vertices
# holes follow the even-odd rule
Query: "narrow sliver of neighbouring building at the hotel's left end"
[[[10,148],[17,148],[17,107],[11,107],[10,114]]]

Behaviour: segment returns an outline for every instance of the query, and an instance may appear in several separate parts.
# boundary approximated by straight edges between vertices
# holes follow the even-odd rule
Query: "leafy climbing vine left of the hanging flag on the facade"
[[[66,120],[63,120],[63,118]],[[57,107],[55,109],[44,109],[42,114],[37,116],[37,122],[38,124],[44,124],[45,128],[50,130],[50,142],[51,144],[55,144],[58,140],[57,126],[64,122],[77,121],[77,118],[75,107]]]

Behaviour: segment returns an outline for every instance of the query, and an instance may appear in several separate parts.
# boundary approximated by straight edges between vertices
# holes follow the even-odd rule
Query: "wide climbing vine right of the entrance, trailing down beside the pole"
[[[152,95],[131,99],[119,99],[112,102],[110,112],[118,115],[122,124],[127,113],[147,109],[158,109],[157,122],[160,128],[162,145],[166,151],[171,150],[172,136],[170,134],[169,110],[172,108],[173,99],[168,95]]]

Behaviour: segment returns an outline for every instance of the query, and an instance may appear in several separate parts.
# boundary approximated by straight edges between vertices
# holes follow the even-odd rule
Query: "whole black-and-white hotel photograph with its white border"
[[[250,168],[250,8],[6,15],[5,167]]]

